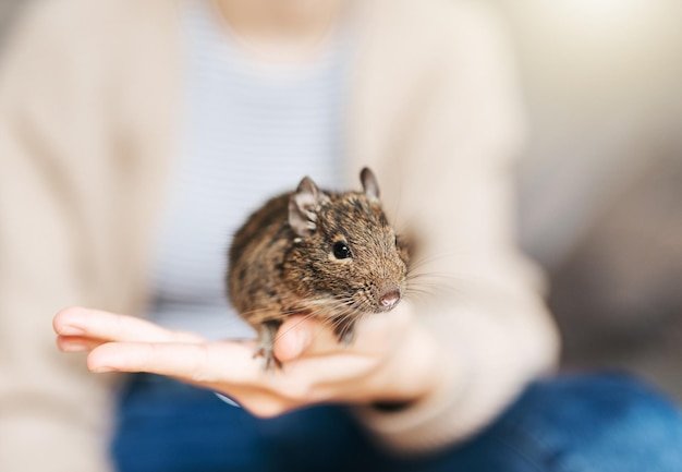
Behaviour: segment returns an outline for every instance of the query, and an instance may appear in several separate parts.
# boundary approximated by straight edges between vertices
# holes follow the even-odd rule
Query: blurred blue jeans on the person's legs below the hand
[[[681,472],[682,417],[630,377],[558,376],[528,386],[468,441],[398,459],[343,407],[260,420],[142,374],[121,396],[112,455],[121,472]]]

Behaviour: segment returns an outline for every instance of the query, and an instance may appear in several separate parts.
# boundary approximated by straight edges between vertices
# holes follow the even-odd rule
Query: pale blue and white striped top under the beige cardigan
[[[349,41],[309,63],[265,62],[240,48],[207,0],[185,4],[181,147],[154,254],[151,318],[209,339],[253,337],[224,291],[232,234],[303,176],[339,187]]]

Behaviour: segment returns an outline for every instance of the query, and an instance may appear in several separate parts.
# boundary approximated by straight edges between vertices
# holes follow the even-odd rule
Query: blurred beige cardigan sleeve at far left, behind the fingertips
[[[100,150],[88,137],[98,122],[81,114],[66,10],[35,3],[0,69],[0,470],[105,472],[109,382],[61,354],[51,329],[57,311],[93,301],[88,210],[76,201],[96,180],[78,160]]]

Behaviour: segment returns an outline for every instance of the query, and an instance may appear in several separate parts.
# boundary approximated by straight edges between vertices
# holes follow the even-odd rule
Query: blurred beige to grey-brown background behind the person
[[[0,51],[28,1],[51,0],[0,0]],[[549,274],[564,368],[682,399],[682,1],[466,1],[499,10],[519,60],[519,237]]]

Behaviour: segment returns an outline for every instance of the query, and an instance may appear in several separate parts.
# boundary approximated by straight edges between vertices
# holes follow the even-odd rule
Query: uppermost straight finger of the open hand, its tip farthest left
[[[203,342],[197,335],[162,328],[134,316],[72,306],[52,320],[61,336],[78,336],[108,341]]]

